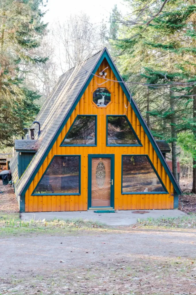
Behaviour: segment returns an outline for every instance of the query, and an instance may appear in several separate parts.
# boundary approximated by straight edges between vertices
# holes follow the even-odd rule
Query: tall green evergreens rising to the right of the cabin
[[[115,45],[119,63],[128,82],[154,84],[148,86],[151,99],[147,99],[145,85],[130,86],[130,89],[133,94],[143,91],[142,101],[150,101],[152,131],[171,142],[173,174],[177,179],[177,133],[187,129],[195,132],[195,0],[170,0],[161,12],[159,2],[151,5],[146,0],[134,0],[129,3],[142,19],[138,14],[134,21],[133,17],[131,20],[127,17],[121,40]],[[153,16],[150,21],[149,15]]]

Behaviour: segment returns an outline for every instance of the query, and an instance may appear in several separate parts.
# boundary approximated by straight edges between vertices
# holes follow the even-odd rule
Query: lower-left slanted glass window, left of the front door
[[[79,156],[55,156],[33,194],[79,194]]]

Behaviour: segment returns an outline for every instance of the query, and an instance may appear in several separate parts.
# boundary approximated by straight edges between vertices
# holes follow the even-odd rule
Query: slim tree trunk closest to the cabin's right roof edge
[[[175,177],[176,181],[178,181],[178,173],[177,173],[177,132],[176,132],[176,118],[175,118],[175,101],[172,97],[172,92],[170,91],[170,108],[173,112],[171,117],[171,136],[172,136],[172,173]]]

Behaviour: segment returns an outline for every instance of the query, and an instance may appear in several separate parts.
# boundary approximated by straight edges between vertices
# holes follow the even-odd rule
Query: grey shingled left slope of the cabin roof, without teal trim
[[[35,171],[41,157],[49,147],[50,142],[57,133],[74,101],[77,99],[77,96],[80,94],[84,84],[91,76],[103,51],[99,51],[91,58],[88,58],[60,76],[52,93],[42,106],[36,117],[36,121],[41,124],[41,134],[38,139],[40,147],[25,173],[21,176],[20,181],[17,183],[19,195]],[[33,127],[35,128],[35,132],[37,132],[37,126],[34,125]]]

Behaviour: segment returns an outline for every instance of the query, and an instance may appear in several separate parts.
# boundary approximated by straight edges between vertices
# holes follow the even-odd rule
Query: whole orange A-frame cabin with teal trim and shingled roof
[[[33,156],[15,173],[21,212],[178,207],[180,187],[106,48],[59,78],[36,121]]]

